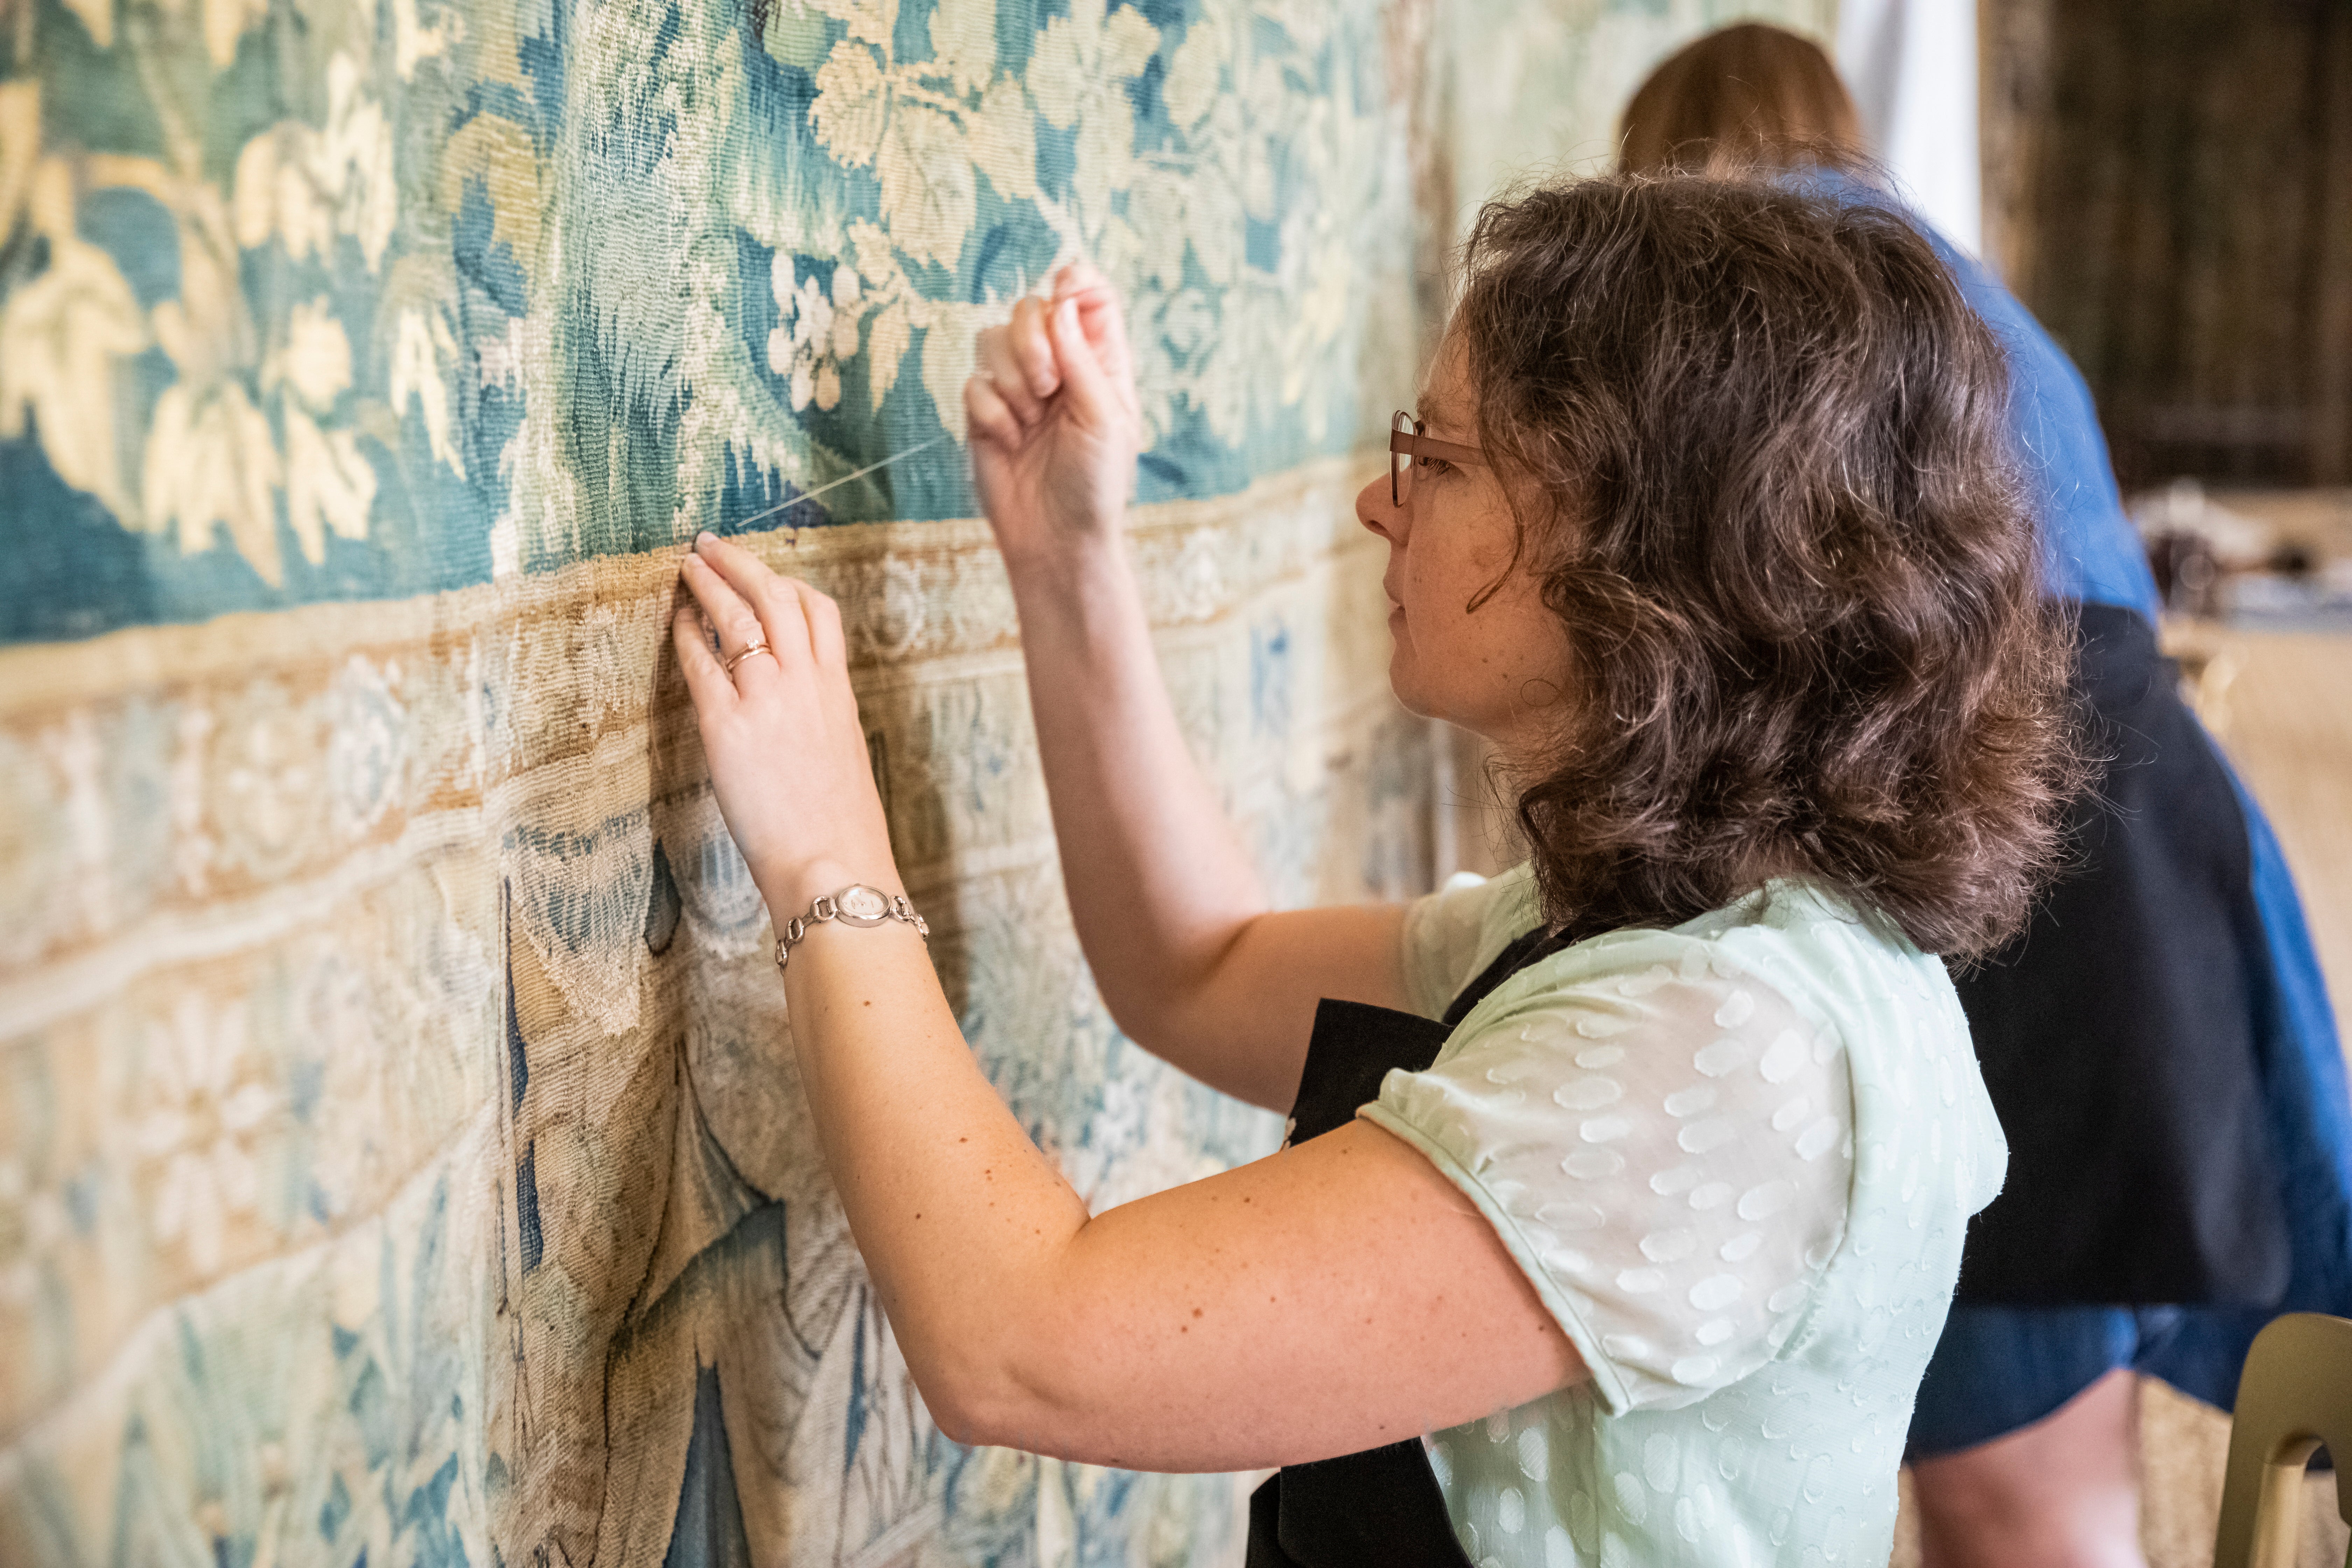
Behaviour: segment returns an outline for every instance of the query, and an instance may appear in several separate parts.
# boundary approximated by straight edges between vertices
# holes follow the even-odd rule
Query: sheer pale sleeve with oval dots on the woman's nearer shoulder
[[[1477,1204],[1613,1410],[1764,1366],[1844,1237],[1844,1044],[1705,938],[1522,971],[1359,1114]]]

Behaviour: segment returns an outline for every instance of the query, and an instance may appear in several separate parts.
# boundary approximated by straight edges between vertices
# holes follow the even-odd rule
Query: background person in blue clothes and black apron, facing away
[[[1771,172],[1903,212],[1830,59],[1762,24],[1668,59],[1628,172]],[[2074,872],[1955,976],[2009,1135],[1910,1427],[1931,1568],[2140,1563],[2133,1373],[2227,1408],[2277,1312],[2352,1312],[2352,1126],[2303,905],[2157,649],[2157,588],[2091,393],[2009,289],[1926,228],[2009,353],[2044,592],[2074,607],[2105,757]]]

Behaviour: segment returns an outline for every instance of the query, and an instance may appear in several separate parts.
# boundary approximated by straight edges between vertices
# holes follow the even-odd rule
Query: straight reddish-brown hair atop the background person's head
[[[1762,21],[1708,33],[1658,66],[1625,106],[1625,174],[1733,174],[1860,162],[1863,122],[1809,38]]]

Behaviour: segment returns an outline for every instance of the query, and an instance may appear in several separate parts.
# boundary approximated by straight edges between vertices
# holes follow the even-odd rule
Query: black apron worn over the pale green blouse
[[[1291,1105],[1291,1143],[1355,1121],[1381,1098],[1392,1067],[1421,1072],[1437,1060],[1470,1009],[1496,985],[1571,938],[1529,931],[1454,999],[1442,1023],[1362,1001],[1315,1009],[1308,1065]],[[1284,1465],[1249,1497],[1247,1568],[1470,1568],[1444,1493],[1418,1436],[1312,1465]]]

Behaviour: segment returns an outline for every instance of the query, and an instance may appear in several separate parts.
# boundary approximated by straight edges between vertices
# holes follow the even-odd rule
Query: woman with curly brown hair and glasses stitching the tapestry
[[[1101,280],[981,350],[974,470],[1103,999],[1294,1135],[1089,1218],[915,940],[837,611],[701,538],[677,656],[941,1429],[1279,1465],[1272,1568],[1884,1561],[2006,1159],[1936,954],[2018,929],[2072,788],[2002,357],[1947,270],[1726,181],[1482,214],[1357,517],[1397,696],[1498,748],[1531,863],[1402,907],[1272,910],[1185,757]]]

